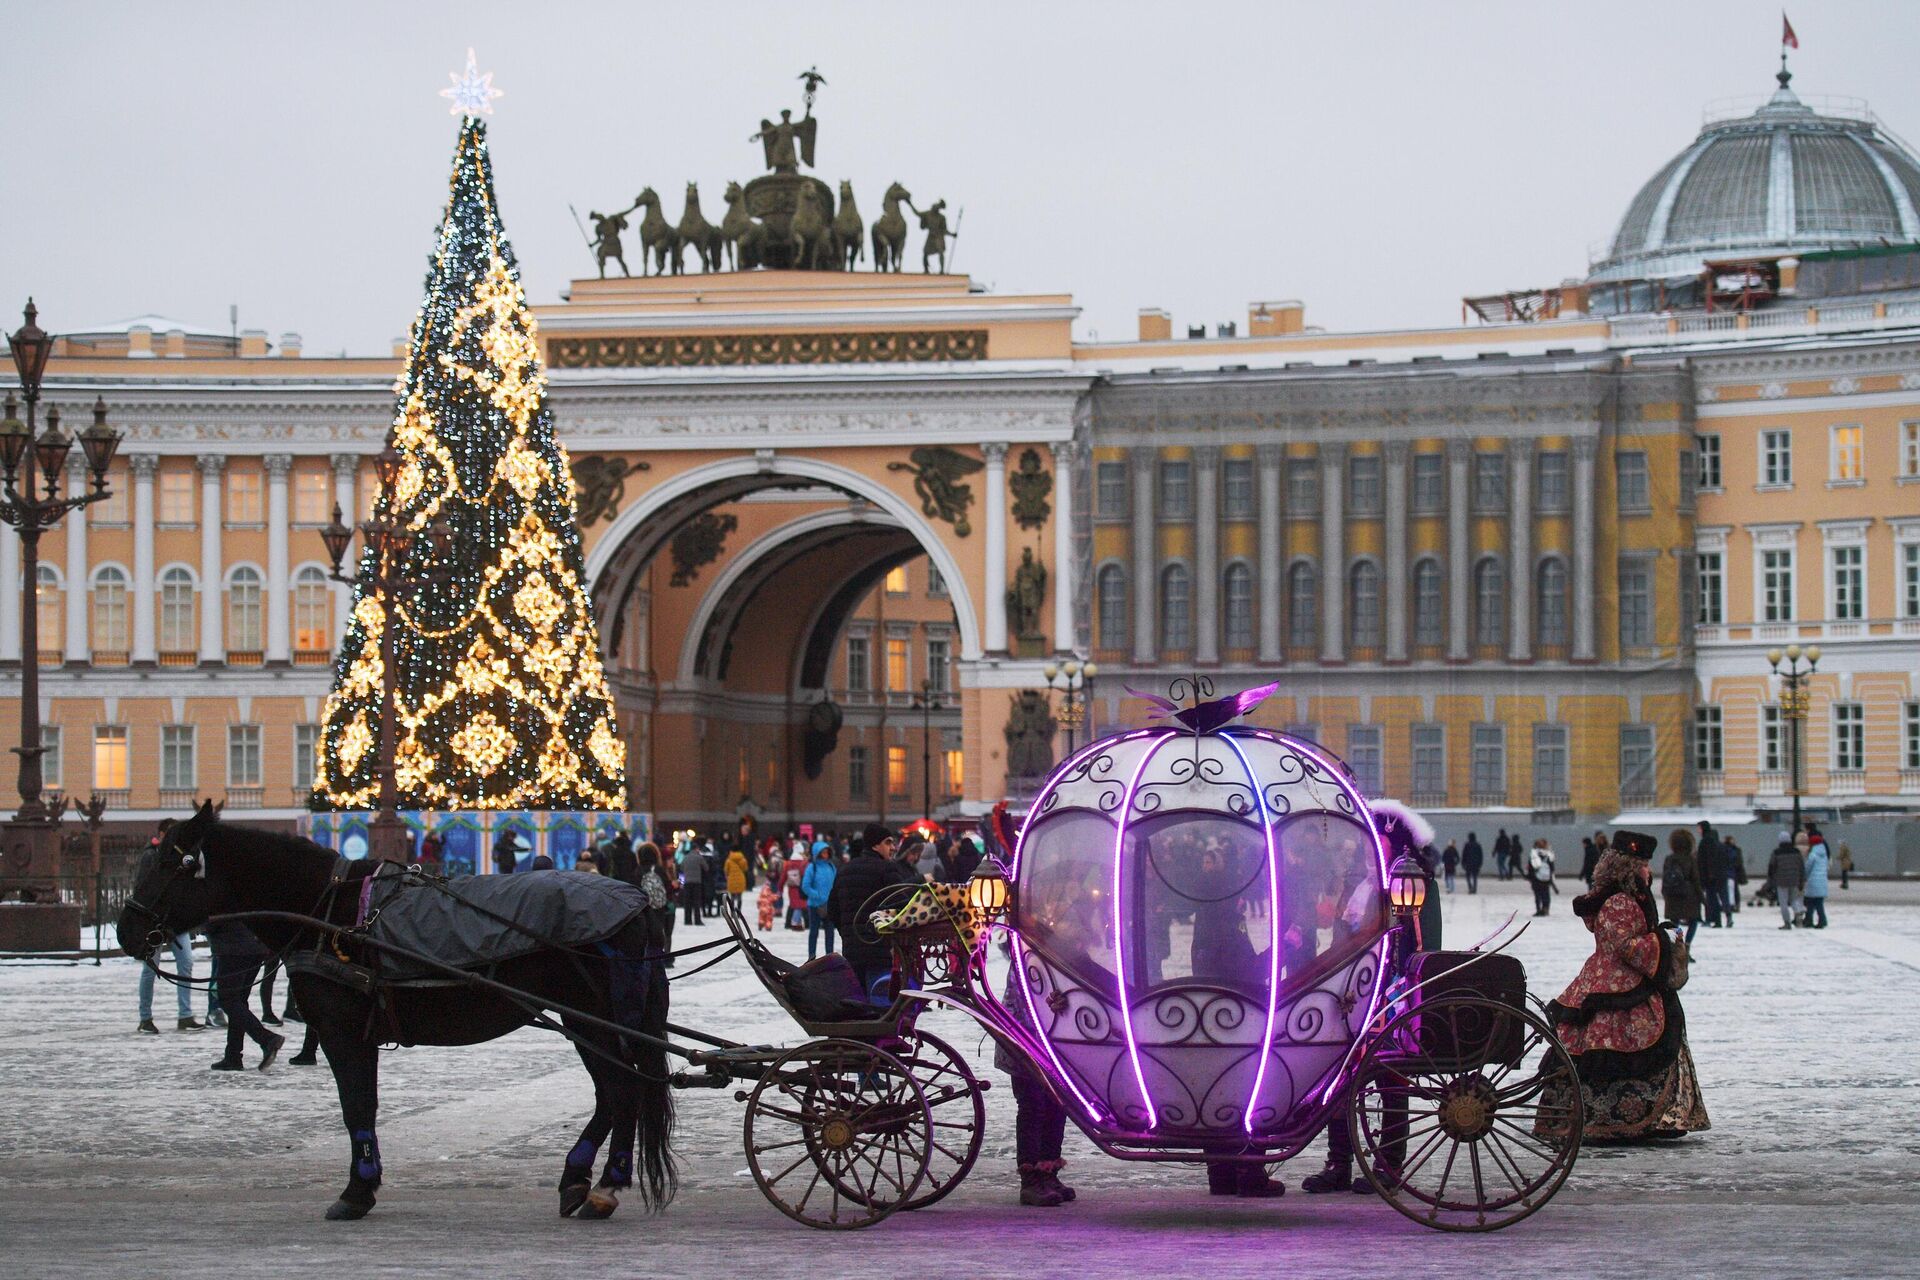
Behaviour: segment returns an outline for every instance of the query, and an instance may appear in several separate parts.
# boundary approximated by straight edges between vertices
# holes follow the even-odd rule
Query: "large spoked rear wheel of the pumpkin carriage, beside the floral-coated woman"
[[[1361,1173],[1394,1209],[1438,1230],[1498,1230],[1551,1199],[1572,1171],[1580,1077],[1530,1009],[1438,996],[1367,1046],[1352,1125]]]

